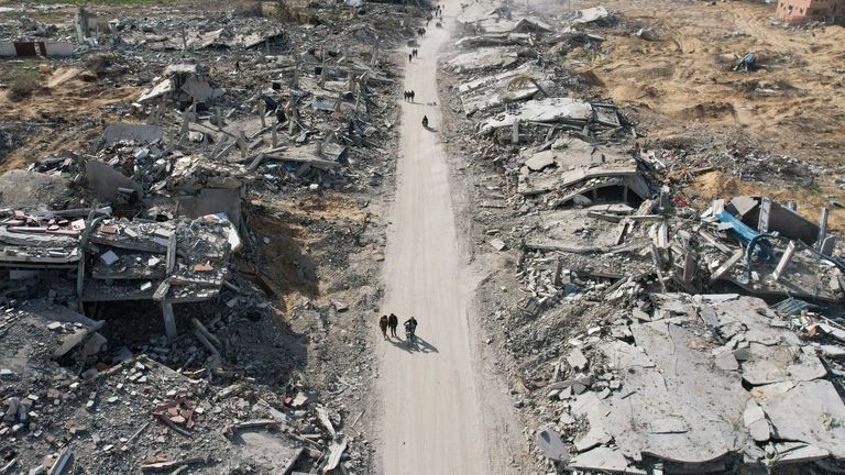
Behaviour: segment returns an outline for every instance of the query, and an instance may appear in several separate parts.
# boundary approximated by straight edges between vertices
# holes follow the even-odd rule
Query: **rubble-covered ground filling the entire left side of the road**
[[[0,9],[0,474],[371,473],[418,7]]]

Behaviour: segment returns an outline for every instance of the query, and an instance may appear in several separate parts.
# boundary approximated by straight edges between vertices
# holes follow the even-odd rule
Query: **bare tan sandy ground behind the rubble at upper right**
[[[652,122],[656,139],[702,122],[749,134],[776,153],[838,164],[845,150],[845,29],[772,25],[775,5],[746,2],[604,2],[659,40],[611,35],[586,65],[616,102]],[[735,54],[760,68],[732,70]]]

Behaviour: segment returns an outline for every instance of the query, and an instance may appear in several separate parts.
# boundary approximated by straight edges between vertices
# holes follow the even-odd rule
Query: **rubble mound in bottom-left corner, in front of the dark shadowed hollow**
[[[296,385],[277,393],[238,371],[109,354],[87,333],[105,322],[84,322],[62,306],[4,312],[0,356],[14,361],[0,374],[4,470],[285,473],[345,443],[334,429],[342,415]]]

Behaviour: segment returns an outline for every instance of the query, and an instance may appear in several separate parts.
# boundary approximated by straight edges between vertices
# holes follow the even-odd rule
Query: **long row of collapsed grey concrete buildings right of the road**
[[[712,170],[824,170],[736,147],[644,147],[625,111],[560,87],[585,78],[550,53],[630,26],[602,7],[475,3],[459,20],[442,76],[464,119],[447,135],[474,157],[462,175],[478,190],[480,253],[507,263],[480,300],[487,343],[515,357],[514,405],[540,468],[841,471],[845,263],[827,209],[817,224],[760,196],[696,209],[683,188]]]

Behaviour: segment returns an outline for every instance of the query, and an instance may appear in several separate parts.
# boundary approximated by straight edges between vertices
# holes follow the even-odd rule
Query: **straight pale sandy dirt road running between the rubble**
[[[451,5],[446,4],[447,15]],[[402,104],[402,150],[385,261],[384,310],[399,317],[399,329],[397,339],[378,342],[381,474],[469,475],[490,473],[491,466],[494,473],[508,472],[501,462],[511,454],[501,453],[500,442],[508,427],[493,415],[503,405],[491,401],[502,391],[483,389],[489,380],[481,380],[478,352],[472,350],[478,338],[470,301],[478,278],[459,246],[449,166],[438,131],[437,52],[448,36],[431,22],[420,38],[419,57],[406,63],[405,89],[416,97],[414,103]],[[424,114],[429,130],[421,126]],[[402,327],[410,316],[419,321],[413,349]],[[512,407],[505,400],[505,411]],[[513,430],[516,424],[512,419],[505,426]]]

